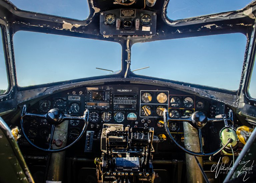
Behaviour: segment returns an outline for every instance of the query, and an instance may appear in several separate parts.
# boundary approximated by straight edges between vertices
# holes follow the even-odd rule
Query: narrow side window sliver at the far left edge
[[[7,71],[5,64],[5,56],[4,56],[4,47],[3,47],[3,36],[2,30],[1,33],[1,41],[0,41],[0,95],[4,94],[8,90],[8,79],[7,79]]]

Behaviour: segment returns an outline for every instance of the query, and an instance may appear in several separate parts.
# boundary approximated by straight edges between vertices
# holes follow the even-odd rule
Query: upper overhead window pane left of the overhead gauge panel
[[[89,16],[87,0],[10,0],[21,10],[84,20]]]

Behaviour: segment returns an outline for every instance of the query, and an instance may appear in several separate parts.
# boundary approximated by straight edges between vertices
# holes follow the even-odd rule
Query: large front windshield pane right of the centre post
[[[131,70],[136,74],[237,90],[246,47],[241,33],[136,43]]]

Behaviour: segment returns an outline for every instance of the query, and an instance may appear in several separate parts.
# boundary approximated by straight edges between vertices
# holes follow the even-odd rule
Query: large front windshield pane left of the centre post
[[[113,73],[96,67],[121,69],[119,43],[26,31],[13,41],[19,86]]]

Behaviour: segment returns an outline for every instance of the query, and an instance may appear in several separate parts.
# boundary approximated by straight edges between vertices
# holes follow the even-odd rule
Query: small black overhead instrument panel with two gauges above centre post
[[[104,36],[152,36],[156,33],[156,13],[140,9],[101,12],[100,33]]]

